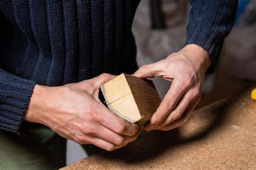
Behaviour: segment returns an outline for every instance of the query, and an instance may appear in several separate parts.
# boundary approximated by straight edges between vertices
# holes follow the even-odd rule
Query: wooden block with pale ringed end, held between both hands
[[[104,83],[102,90],[107,107],[129,122],[144,125],[156,112],[161,99],[151,80],[121,74]]]

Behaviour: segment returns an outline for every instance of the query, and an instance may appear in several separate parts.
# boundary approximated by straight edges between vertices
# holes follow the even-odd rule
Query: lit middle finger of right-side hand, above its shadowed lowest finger
[[[159,126],[166,126],[172,123],[173,121],[179,119],[183,115],[185,110],[188,108],[190,103],[193,103],[194,100],[197,101],[198,97],[199,93],[197,94],[197,92],[194,92],[193,89],[188,90],[187,93],[183,96],[183,98],[181,98],[181,101],[179,102],[177,107],[165,118],[165,120],[161,124],[159,124]]]

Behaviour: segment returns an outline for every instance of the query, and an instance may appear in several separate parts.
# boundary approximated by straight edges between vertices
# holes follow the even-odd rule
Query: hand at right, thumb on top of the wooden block
[[[153,114],[145,130],[171,130],[185,124],[201,97],[206,69],[211,65],[208,53],[197,45],[186,45],[164,60],[140,67],[133,75],[161,76],[171,87]]]

